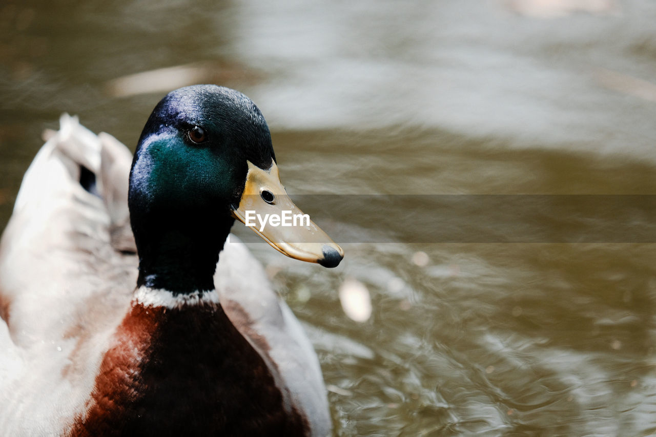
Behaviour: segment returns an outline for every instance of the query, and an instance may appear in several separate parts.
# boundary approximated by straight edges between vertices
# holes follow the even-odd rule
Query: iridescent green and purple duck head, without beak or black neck
[[[229,215],[229,206],[239,203],[246,161],[268,169],[274,159],[268,125],[247,96],[216,85],[178,89],[157,104],[144,127],[130,201],[146,211],[202,204]]]

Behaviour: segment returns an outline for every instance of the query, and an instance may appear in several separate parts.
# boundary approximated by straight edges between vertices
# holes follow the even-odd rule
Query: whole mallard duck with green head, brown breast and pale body
[[[329,434],[312,345],[226,242],[249,211],[300,213],[255,104],[215,85],[173,91],[134,157],[60,123],[0,243],[0,435]],[[289,257],[343,257],[312,222],[253,230]]]

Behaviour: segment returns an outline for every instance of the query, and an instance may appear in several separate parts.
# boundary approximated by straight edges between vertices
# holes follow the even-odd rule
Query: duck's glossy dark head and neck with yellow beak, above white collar
[[[253,224],[258,214],[302,214],[279,180],[260,110],[245,95],[215,85],[178,89],[157,104],[134,153],[129,208],[138,285],[173,293],[213,289],[235,218]],[[295,259],[335,267],[344,256],[311,221],[256,222],[252,229]]]

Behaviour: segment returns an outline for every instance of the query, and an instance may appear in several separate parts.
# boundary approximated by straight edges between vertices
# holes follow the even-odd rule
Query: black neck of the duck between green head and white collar
[[[165,289],[173,295],[215,289],[218,254],[234,218],[190,211],[159,217],[148,220],[148,227],[133,224],[139,255],[137,287]]]

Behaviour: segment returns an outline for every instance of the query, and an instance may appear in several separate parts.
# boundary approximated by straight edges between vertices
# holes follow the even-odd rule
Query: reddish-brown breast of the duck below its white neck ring
[[[222,308],[136,305],[71,436],[303,436],[306,421]]]

